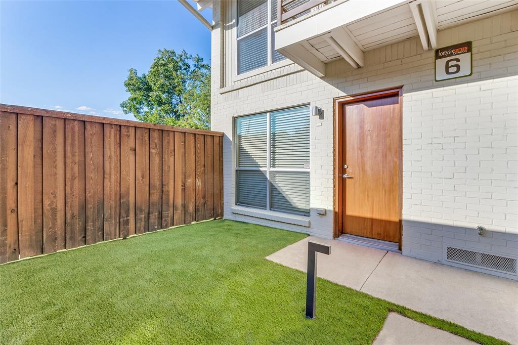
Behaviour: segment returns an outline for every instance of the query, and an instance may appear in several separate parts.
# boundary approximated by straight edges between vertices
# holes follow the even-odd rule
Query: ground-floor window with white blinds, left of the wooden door
[[[309,215],[309,107],[236,119],[236,204]]]

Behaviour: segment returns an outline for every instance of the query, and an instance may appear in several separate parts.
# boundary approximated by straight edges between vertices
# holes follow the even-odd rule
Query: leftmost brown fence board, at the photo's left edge
[[[18,260],[18,117],[0,112],[0,264]]]

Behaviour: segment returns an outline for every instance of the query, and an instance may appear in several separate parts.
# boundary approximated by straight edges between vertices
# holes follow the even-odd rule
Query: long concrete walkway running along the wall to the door
[[[306,271],[309,240],[332,245],[321,278],[518,344],[518,282],[313,236],[266,258]]]

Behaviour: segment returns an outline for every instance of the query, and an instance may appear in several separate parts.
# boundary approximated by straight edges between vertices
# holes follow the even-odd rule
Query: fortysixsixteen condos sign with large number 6
[[[435,81],[469,77],[472,71],[471,41],[435,50]]]

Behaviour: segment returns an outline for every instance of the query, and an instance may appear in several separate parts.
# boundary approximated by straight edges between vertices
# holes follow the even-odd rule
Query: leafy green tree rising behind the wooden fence
[[[139,121],[210,128],[210,66],[182,50],[159,50],[147,74],[131,68],[121,103]]]

